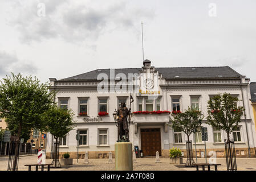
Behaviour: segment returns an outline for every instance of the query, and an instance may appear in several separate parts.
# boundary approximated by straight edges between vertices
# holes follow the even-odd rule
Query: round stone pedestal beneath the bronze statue
[[[115,143],[115,170],[132,171],[132,143],[117,142]]]

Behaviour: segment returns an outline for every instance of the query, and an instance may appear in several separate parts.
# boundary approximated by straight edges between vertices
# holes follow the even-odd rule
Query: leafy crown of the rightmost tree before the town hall
[[[237,106],[238,98],[229,93],[214,96],[208,101],[208,124],[218,130],[224,130],[227,134],[227,141],[230,141],[230,134],[241,121],[243,107]]]

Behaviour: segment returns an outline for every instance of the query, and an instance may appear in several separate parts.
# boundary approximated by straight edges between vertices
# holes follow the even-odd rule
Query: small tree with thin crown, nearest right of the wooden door
[[[173,116],[172,124],[174,130],[183,131],[189,142],[189,136],[196,131],[198,127],[202,124],[202,118],[201,117],[201,111],[198,111],[198,109],[191,109],[188,107],[187,110],[185,110],[184,113],[180,113]],[[186,161],[186,166],[193,166],[194,160],[192,155],[192,146],[190,148],[189,143],[186,145],[186,149],[188,151],[188,160]]]

